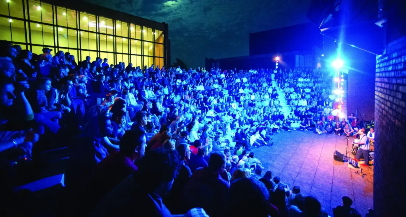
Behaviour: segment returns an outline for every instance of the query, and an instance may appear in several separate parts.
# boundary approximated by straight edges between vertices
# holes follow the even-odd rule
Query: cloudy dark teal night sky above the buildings
[[[249,54],[248,33],[308,22],[310,0],[85,0],[169,25],[171,60]]]

